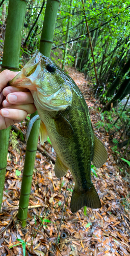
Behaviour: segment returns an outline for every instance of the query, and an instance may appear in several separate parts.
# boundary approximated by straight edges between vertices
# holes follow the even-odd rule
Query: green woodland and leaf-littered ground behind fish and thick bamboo
[[[1,65],[8,3],[7,0],[0,3]],[[27,63],[35,49],[39,49],[45,7],[44,1],[30,0],[27,3],[19,69]],[[129,1],[92,0],[86,1],[85,9],[97,80],[81,1],[60,2],[50,56],[80,87],[89,106],[94,131],[108,149],[108,162],[98,170],[91,166],[102,207],[99,211],[87,209],[71,214],[72,177],[69,173],[62,181],[56,179],[53,171],[56,154],[48,139],[44,147],[39,144],[36,154],[28,226],[21,230],[20,225],[13,221],[18,209],[25,157],[23,139],[30,119],[28,116],[21,124],[12,127],[10,136],[0,222],[0,250],[3,256],[23,255],[23,247],[29,255],[130,254],[130,5]],[[61,240],[55,251],[67,183]],[[66,234],[67,240],[62,240],[62,233]],[[20,246],[10,248],[18,243],[16,239],[21,239]]]

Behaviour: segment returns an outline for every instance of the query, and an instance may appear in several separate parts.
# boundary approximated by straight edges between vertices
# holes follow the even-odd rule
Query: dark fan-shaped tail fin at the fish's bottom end
[[[76,191],[75,188],[73,189],[70,203],[72,214],[75,214],[76,211],[80,210],[84,206],[92,209],[101,207],[100,199],[93,184],[85,193],[80,193],[80,191]]]

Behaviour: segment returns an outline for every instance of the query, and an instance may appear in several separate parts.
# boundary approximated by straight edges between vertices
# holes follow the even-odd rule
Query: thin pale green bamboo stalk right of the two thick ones
[[[72,13],[72,4],[73,4],[73,0],[70,0],[69,13]],[[69,16],[69,21],[68,21],[68,24],[67,24],[67,32],[66,32],[66,36],[65,36],[65,41],[69,40],[70,25],[71,25],[71,17]],[[66,60],[66,56],[67,56],[67,49],[68,49],[68,44],[65,45],[64,57],[63,57],[63,62],[62,62],[62,70],[64,70],[64,67],[65,67],[65,60]]]

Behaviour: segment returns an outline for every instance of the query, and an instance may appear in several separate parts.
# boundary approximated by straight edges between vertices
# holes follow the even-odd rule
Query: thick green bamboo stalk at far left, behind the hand
[[[19,68],[21,31],[23,30],[26,5],[27,1],[25,0],[9,1],[2,70],[17,71]],[[0,131],[0,210],[5,182],[9,136],[10,127]]]

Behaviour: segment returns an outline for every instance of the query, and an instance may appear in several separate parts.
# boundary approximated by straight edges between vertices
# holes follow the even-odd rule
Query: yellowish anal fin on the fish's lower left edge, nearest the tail
[[[61,160],[59,159],[58,156],[56,158],[54,170],[55,170],[55,174],[56,174],[57,178],[61,178],[61,177],[65,176],[68,172],[68,168],[61,162]]]

